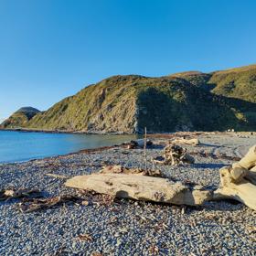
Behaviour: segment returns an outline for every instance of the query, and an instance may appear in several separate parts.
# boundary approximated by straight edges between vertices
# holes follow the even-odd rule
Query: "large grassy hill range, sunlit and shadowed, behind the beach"
[[[46,112],[37,112],[27,122],[16,122],[16,126],[106,133],[140,133],[145,126],[152,133],[255,131],[255,75],[254,65],[161,78],[114,76],[59,101]]]

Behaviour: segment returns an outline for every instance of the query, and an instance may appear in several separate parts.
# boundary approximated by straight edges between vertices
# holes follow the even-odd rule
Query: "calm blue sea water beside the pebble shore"
[[[0,163],[13,163],[80,149],[121,144],[136,135],[95,135],[69,133],[22,133],[0,131]]]

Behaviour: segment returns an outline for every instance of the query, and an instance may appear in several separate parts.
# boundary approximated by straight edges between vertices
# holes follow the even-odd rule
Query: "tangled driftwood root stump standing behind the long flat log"
[[[158,156],[153,159],[153,162],[163,165],[181,165],[193,164],[195,163],[195,159],[187,153],[187,149],[177,144],[168,144],[164,148],[163,157]]]

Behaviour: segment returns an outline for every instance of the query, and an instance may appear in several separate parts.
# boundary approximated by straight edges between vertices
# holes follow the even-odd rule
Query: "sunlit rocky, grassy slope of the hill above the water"
[[[35,116],[29,128],[84,132],[131,132],[135,123],[135,89],[139,76],[115,76],[59,101]]]

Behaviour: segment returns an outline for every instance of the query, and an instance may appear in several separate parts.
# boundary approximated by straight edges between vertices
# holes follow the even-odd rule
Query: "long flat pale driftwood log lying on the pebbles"
[[[152,176],[92,174],[74,176],[65,185],[113,197],[133,198],[175,205],[196,206],[211,198],[210,191],[190,190],[181,183]]]

